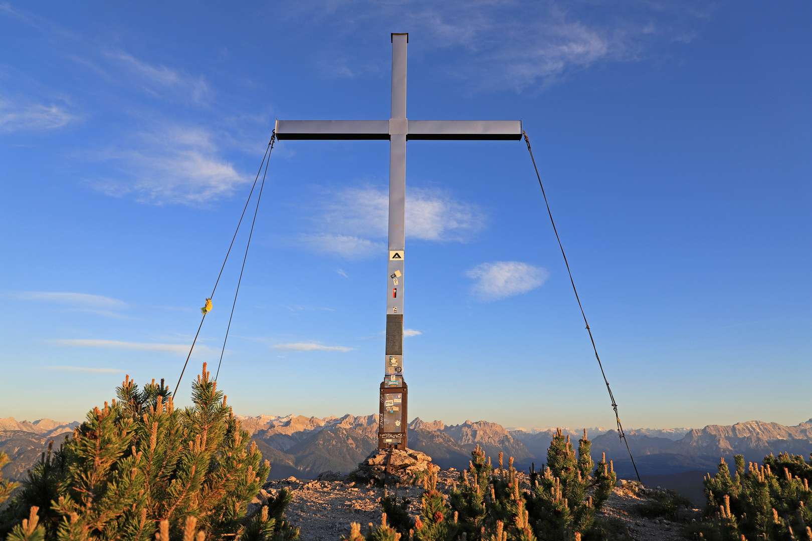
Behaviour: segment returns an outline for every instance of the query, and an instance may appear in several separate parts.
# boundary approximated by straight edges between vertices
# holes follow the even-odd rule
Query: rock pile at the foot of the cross
[[[429,470],[439,471],[431,457],[413,449],[374,449],[352,474],[359,481],[412,484]]]

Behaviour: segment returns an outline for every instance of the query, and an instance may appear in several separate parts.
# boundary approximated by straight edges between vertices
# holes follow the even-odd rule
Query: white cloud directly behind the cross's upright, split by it
[[[363,259],[380,255],[386,243],[389,195],[378,187],[352,187],[330,192],[313,218],[325,232],[300,234],[296,243],[311,251]],[[440,242],[466,242],[486,225],[475,204],[454,200],[439,190],[408,188],[406,236]]]

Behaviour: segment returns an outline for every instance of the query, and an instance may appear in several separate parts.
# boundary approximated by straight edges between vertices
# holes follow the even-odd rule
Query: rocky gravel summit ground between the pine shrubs
[[[448,493],[460,472],[441,470],[438,473],[437,487]],[[326,478],[333,476],[327,475]],[[525,474],[518,474],[525,483]],[[323,479],[323,478],[322,478]],[[302,481],[294,477],[270,481],[262,487],[260,496],[253,500],[253,505],[261,504],[268,496],[275,496],[282,488],[292,492],[293,500],[287,509],[287,517],[294,526],[301,528],[303,541],[335,541],[349,534],[352,522],[361,523],[361,531],[366,530],[369,522],[380,524],[381,507],[378,500],[384,495],[384,488],[372,484],[353,483],[348,480],[314,480]],[[420,502],[423,489],[418,486],[400,486],[387,489],[399,496],[411,500],[409,512],[417,517],[420,514]],[[638,490],[634,483],[620,483],[612,492],[607,505],[604,505],[598,517],[616,518],[621,523],[620,536],[638,541],[648,539],[675,540],[685,539],[682,534],[685,526],[698,518],[698,509],[685,509],[679,522],[672,522],[663,517],[646,518],[641,509],[654,500],[646,493],[650,490]]]

